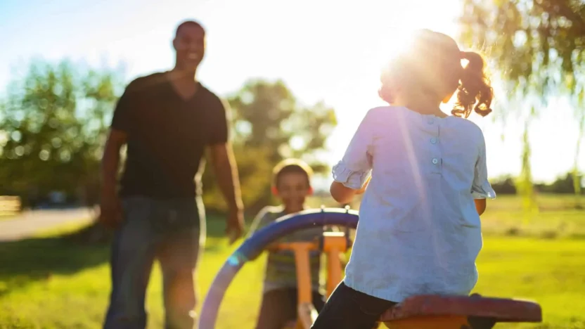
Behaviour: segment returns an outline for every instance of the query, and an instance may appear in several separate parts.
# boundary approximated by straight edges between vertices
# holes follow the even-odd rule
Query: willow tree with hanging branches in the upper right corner
[[[482,45],[496,60],[510,96],[522,100],[527,122],[522,175],[523,194],[532,193],[527,130],[548,101],[567,97],[574,105],[579,140],[574,157],[574,193],[579,148],[585,128],[585,3],[581,0],[464,0],[461,39]],[[510,106],[508,108],[517,107]]]

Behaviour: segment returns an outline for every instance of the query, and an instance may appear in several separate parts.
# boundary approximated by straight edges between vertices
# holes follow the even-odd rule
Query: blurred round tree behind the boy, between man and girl
[[[323,103],[304,106],[282,81],[252,79],[228,98],[232,110],[234,153],[245,205],[255,211],[271,202],[271,169],[285,157],[299,157],[316,172],[327,165],[317,154],[333,131],[335,111]],[[203,177],[206,206],[223,209],[214,179]]]

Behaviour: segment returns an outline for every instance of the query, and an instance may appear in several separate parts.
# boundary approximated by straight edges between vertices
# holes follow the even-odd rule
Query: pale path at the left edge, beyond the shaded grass
[[[91,221],[89,209],[33,210],[0,220],[0,242],[28,238],[55,226]]]

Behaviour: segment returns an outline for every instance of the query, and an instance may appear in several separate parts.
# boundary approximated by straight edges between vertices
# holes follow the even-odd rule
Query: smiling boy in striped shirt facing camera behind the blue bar
[[[313,193],[312,169],[301,160],[283,160],[273,170],[272,193],[281,200],[278,207],[265,207],[252,223],[250,235],[258,228],[271,224],[279,217],[305,209],[304,202]],[[297,231],[282,242],[312,241],[323,234],[323,228]],[[323,295],[319,292],[319,267],[321,253],[311,252],[309,263],[313,304],[321,311]],[[282,329],[297,318],[297,273],[295,255],[292,251],[269,252],[264,276],[262,306],[256,329]]]

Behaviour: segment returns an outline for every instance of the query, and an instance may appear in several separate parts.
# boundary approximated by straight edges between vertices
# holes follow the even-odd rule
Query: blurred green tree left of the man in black
[[[120,75],[68,61],[32,63],[0,105],[0,181],[30,199],[51,191],[95,195],[108,115]],[[96,200],[83,200],[93,205]]]

